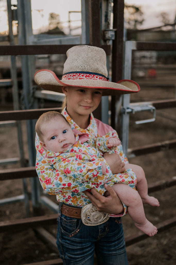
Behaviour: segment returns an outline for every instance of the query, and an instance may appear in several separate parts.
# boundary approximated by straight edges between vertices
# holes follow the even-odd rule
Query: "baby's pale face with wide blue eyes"
[[[46,150],[63,152],[74,145],[75,136],[70,125],[63,118],[56,118],[41,127]]]

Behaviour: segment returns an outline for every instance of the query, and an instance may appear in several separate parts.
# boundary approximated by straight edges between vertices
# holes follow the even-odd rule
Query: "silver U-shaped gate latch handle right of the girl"
[[[148,123],[148,122],[155,121],[155,119],[156,119],[156,108],[152,105],[135,105],[135,106],[122,108],[122,113],[124,113],[124,114],[131,113],[131,112],[133,114],[135,114],[136,112],[141,112],[141,111],[153,112],[153,118],[141,120],[141,121],[135,121],[135,124],[142,124],[142,123]]]

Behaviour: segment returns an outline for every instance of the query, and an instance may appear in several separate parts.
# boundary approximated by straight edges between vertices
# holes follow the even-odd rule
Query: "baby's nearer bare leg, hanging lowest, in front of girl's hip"
[[[142,200],[138,192],[123,183],[116,183],[112,188],[120,200],[128,206],[128,213],[134,220],[135,226],[149,236],[156,235],[158,232],[157,228],[146,219]]]

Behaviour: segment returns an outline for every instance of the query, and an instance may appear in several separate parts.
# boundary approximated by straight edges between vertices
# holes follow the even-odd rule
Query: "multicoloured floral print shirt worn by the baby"
[[[88,186],[90,178],[102,175],[102,161],[104,161],[102,157],[102,152],[91,147],[87,142],[82,144],[79,141],[79,134],[76,134],[72,147],[60,153],[47,151],[45,161],[62,174],[72,178],[76,183],[77,181],[81,182],[79,191],[84,191],[87,188],[92,188],[92,186]],[[85,181],[87,181],[86,187]]]

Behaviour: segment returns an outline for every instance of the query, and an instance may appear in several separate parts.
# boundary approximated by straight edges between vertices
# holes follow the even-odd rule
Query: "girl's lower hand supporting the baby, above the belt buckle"
[[[94,188],[91,189],[92,194],[88,191],[83,192],[98,211],[109,214],[122,213],[124,211],[124,207],[116,192],[107,184],[104,184],[104,187],[109,192],[109,195],[107,197],[100,195]]]

